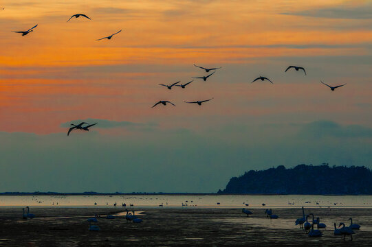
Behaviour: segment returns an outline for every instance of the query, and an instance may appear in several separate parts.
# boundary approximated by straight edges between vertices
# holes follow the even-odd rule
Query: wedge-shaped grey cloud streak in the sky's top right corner
[[[351,7],[342,5],[331,8],[318,8],[314,10],[303,10],[298,12],[285,12],[281,14],[310,16],[329,19],[372,19],[371,3]]]

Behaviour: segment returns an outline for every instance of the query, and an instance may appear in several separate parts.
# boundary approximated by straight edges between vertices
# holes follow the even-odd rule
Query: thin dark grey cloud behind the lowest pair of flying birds
[[[126,128],[126,127],[140,127],[140,128],[155,128],[158,124],[149,122],[149,123],[135,123],[131,121],[113,121],[107,119],[76,119],[73,121],[68,121],[61,124],[62,128],[69,128],[71,124],[80,124],[82,122],[86,122],[89,124],[98,123],[95,128]]]

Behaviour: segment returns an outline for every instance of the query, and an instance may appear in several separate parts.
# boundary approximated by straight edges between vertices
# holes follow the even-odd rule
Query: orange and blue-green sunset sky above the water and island
[[[250,169],[372,168],[371,1],[0,7],[0,191],[216,192]],[[208,74],[193,64],[222,68],[158,85]],[[80,121],[98,124],[67,137]]]

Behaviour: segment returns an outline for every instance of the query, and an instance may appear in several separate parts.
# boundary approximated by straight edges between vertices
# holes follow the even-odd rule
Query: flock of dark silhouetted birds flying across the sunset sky
[[[82,17],[84,17],[84,18],[86,18],[86,19],[91,20],[91,19],[90,19],[87,15],[85,15],[85,14],[74,14],[74,15],[72,15],[72,16],[68,19],[67,22],[69,22],[69,21],[70,21],[71,19],[73,19],[74,17],[77,19],[77,18],[79,18],[80,16],[82,16]],[[33,31],[34,31],[34,28],[37,27],[37,26],[38,26],[38,25],[36,24],[36,25],[34,25],[34,27],[30,28],[30,29],[27,30],[27,31],[12,31],[12,32],[19,33],[19,34],[22,34],[22,36],[25,36],[25,35],[27,35],[27,34],[30,34],[30,32],[33,32]],[[103,37],[103,38],[98,38],[97,40],[103,40],[103,39],[105,39],[105,38],[107,38],[108,40],[110,40],[114,35],[119,34],[120,32],[122,32],[122,30],[120,30],[120,31],[118,31],[118,32],[116,32],[116,33],[114,33],[114,34],[111,34],[110,36],[106,36],[106,37]],[[216,67],[216,68],[210,68],[210,69],[208,69],[208,68],[204,68],[204,67],[198,66],[198,65],[196,65],[196,64],[194,64],[194,66],[195,66],[195,67],[198,67],[198,68],[200,68],[200,69],[203,69],[204,71],[206,71],[206,73],[209,73],[210,71],[213,71],[213,72],[210,73],[209,75],[204,75],[204,76],[201,76],[201,77],[195,77],[195,78],[193,78],[193,79],[203,79],[204,82],[206,82],[206,80],[207,80],[211,75],[213,75],[213,74],[216,72],[217,69],[221,69],[221,67]],[[303,70],[303,72],[305,73],[305,75],[307,75],[307,74],[306,74],[306,71],[305,71],[305,68],[303,68],[303,67],[297,67],[297,66],[292,66],[292,65],[291,65],[291,66],[287,67],[287,69],[285,69],[285,72],[287,72],[289,69],[295,69],[296,71]],[[267,80],[267,81],[271,82],[272,84],[274,84],[274,82],[272,82],[272,80],[270,80],[269,78],[266,78],[266,77],[264,77],[264,76],[262,76],[262,75],[261,75],[259,78],[254,79],[251,83],[256,82],[256,80],[261,80],[261,81]],[[169,89],[169,90],[171,90],[171,89],[173,88],[173,86],[179,86],[179,87],[181,87],[182,89],[185,89],[186,86],[188,86],[188,84],[190,84],[190,83],[193,82],[193,81],[194,81],[194,80],[191,80],[190,82],[187,82],[186,84],[179,84],[179,82],[175,82],[175,83],[173,83],[173,84],[171,84],[171,85],[166,85],[166,84],[159,84],[159,85],[160,85],[160,86],[166,86],[166,88]],[[321,82],[322,84],[325,84],[325,83],[322,82],[321,80],[320,80],[320,82]],[[345,84],[346,84],[346,83],[345,83]],[[325,85],[328,86],[329,89],[331,89],[331,91],[334,91],[335,89],[339,88],[340,86],[344,86],[345,84],[338,85],[338,86],[330,86],[329,84],[325,84]],[[213,98],[210,98],[210,99],[204,99],[204,100],[197,100],[197,101],[195,101],[195,102],[186,102],[186,101],[185,101],[185,103],[188,103],[188,104],[198,104],[199,106],[201,106],[201,104],[203,104],[204,102],[209,102],[209,101],[212,100],[212,99],[213,99]],[[172,102],[170,102],[170,101],[168,101],[168,100],[160,100],[159,102],[157,102],[156,104],[154,104],[154,105],[152,106],[152,108],[155,107],[155,106],[157,106],[157,105],[159,105],[159,104],[162,104],[162,105],[166,106],[166,104],[168,104],[168,103],[171,104],[171,105],[173,105],[173,106],[175,106],[175,104],[173,104]],[[85,131],[89,131],[89,128],[90,128],[91,126],[95,126],[95,125],[98,124],[98,123],[96,123],[96,124],[87,124],[87,126],[83,126],[83,125],[85,125],[85,124],[87,124],[87,123],[82,122],[82,123],[77,124],[77,125],[75,125],[75,124],[71,124],[72,127],[69,128],[69,130],[68,130],[68,132],[67,132],[67,136],[69,135],[70,132],[72,132],[72,130],[85,130]]]

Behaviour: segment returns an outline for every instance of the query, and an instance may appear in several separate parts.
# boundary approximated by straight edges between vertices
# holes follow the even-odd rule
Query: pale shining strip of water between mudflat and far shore
[[[0,196],[0,207],[324,207],[372,208],[372,196]],[[116,205],[116,206],[115,206]],[[133,206],[132,206],[133,205]],[[248,205],[248,206],[247,206]]]

